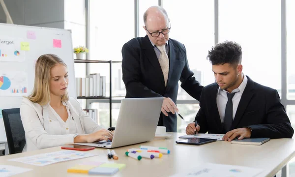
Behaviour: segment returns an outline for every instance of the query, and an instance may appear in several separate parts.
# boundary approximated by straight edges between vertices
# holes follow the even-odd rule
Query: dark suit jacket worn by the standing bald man
[[[203,86],[193,77],[189,69],[186,50],[183,44],[169,39],[169,76],[165,87],[164,76],[148,36],[131,39],[122,48],[123,82],[126,98],[169,97],[177,100],[178,81],[188,94],[200,100]],[[159,125],[166,126],[166,131],[177,132],[177,115],[161,113]]]

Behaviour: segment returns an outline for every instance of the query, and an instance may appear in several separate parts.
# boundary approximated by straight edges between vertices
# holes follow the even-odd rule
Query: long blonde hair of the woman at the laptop
[[[34,89],[29,95],[29,100],[40,105],[46,105],[50,102],[50,70],[58,64],[66,64],[57,55],[45,54],[41,55],[35,64],[35,82]],[[69,99],[66,92],[61,96],[62,101]]]

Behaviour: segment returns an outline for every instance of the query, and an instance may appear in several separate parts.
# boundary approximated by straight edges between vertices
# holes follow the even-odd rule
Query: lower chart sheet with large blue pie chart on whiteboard
[[[0,96],[27,96],[28,73],[0,70]]]

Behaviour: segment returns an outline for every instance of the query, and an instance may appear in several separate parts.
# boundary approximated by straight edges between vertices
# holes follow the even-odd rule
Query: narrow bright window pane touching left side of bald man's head
[[[158,5],[158,0],[139,0],[138,9],[139,9],[139,37],[144,37],[147,35],[146,30],[143,28],[144,23],[144,13],[148,7],[153,5]]]

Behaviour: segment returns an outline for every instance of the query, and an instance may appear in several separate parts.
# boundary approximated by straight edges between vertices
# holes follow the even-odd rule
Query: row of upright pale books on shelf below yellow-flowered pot
[[[77,96],[106,96],[106,77],[99,73],[87,75],[86,78],[76,78]]]

